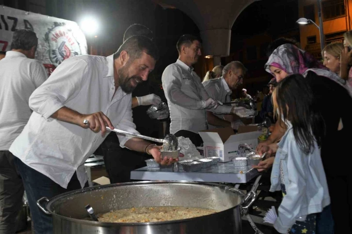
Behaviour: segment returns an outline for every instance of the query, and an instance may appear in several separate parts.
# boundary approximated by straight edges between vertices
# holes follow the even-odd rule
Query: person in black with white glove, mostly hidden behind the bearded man
[[[153,32],[141,24],[133,24],[128,27],[124,34],[124,41],[134,35],[142,35],[152,39]],[[161,90],[161,89],[160,89]],[[161,91],[162,92],[162,91]],[[142,82],[132,92],[133,123],[136,130],[144,136],[159,138],[160,121],[151,119],[146,111],[150,105],[158,105],[160,96],[150,80]],[[169,109],[157,111],[157,119],[165,119],[169,116]],[[146,166],[145,160],[151,158],[144,152],[136,152],[128,148],[121,148],[115,133],[110,133],[101,144],[104,155],[105,168],[108,172],[110,183],[129,182],[131,171]]]

